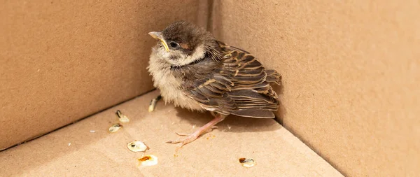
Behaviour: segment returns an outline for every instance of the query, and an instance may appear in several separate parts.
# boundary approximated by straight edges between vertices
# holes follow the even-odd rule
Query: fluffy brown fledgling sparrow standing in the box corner
[[[149,34],[159,42],[152,48],[148,71],[165,102],[214,115],[183,141],[168,143],[182,147],[195,141],[230,114],[274,118],[279,101],[270,84],[280,85],[281,76],[249,52],[225,45],[186,21]]]

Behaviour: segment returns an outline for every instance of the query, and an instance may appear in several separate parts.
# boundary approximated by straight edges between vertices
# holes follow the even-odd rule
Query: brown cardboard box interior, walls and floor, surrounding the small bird
[[[8,149],[0,152],[1,176],[420,173],[417,1],[2,4],[0,149]],[[153,90],[146,65],[155,44],[147,33],[181,19],[281,73],[281,125],[229,117],[174,153],[165,143],[174,132],[211,118],[163,104],[146,111],[158,94],[145,94]],[[132,121],[109,134],[117,109]],[[157,166],[137,165],[141,153],[126,148],[134,139],[146,141]],[[239,157],[257,166],[241,167]]]

